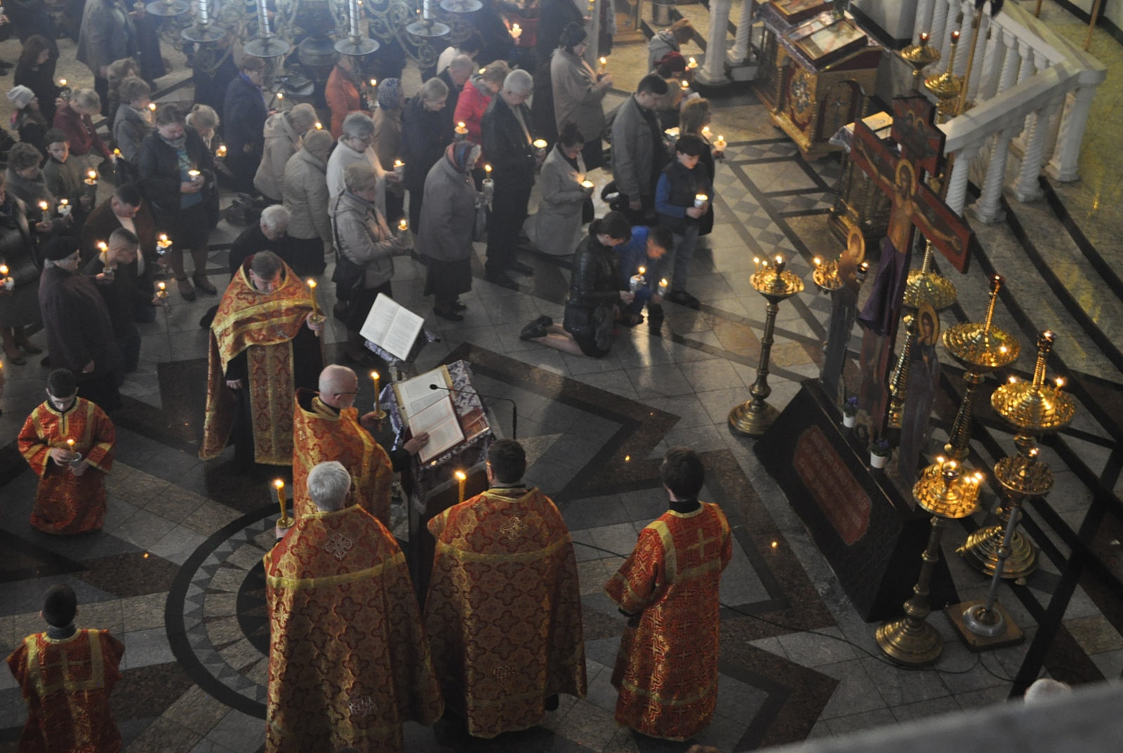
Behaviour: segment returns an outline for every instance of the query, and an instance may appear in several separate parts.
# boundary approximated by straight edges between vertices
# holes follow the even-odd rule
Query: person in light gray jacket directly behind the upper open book
[[[347,189],[328,210],[336,240],[336,272],[331,279],[348,302],[344,353],[351,361],[373,365],[373,355],[359,330],[380,293],[393,297],[393,257],[404,254],[405,245],[378,210],[380,181],[374,168],[362,162],[348,165],[344,180]]]

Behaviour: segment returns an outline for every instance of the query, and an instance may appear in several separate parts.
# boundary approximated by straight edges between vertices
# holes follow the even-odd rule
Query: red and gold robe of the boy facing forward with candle
[[[90,467],[81,476],[51,459],[52,448],[81,452]],[[19,432],[19,453],[39,477],[31,525],[46,533],[99,531],[106,522],[106,474],[113,467],[117,431],[104,412],[81,397],[65,413],[49,402],[31,411]]]

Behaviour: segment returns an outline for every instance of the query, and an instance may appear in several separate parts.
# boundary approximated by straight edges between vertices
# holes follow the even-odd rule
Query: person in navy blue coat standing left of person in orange
[[[257,193],[254,175],[262,162],[265,120],[270,117],[262,85],[265,82],[265,61],[244,55],[239,74],[226,89],[222,119],[226,122],[226,146],[229,149],[226,166],[234,173],[234,186],[248,194]]]

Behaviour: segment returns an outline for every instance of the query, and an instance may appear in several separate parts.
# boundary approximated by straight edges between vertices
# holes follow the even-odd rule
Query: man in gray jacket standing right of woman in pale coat
[[[669,162],[655,113],[666,93],[661,76],[643,76],[612,121],[612,180],[620,192],[621,211],[632,224],[650,224],[646,220],[655,212],[655,184]]]

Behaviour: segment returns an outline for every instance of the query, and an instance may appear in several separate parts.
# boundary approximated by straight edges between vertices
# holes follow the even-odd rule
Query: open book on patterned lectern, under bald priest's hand
[[[433,389],[432,385],[440,389]],[[419,453],[421,462],[429,462],[465,439],[487,430],[483,411],[469,411],[465,416],[456,413],[451,388],[453,378],[446,366],[394,385],[398,410],[410,432],[414,437],[421,432],[429,434],[429,442]]]

